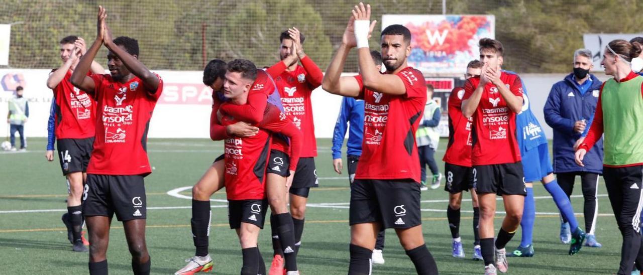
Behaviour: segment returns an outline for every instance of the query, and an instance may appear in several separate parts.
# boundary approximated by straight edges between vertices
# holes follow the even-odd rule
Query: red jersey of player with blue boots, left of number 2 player
[[[462,114],[464,87],[456,87],[448,99],[449,143],[442,161],[445,163],[471,167],[471,127],[473,117],[467,119]]]

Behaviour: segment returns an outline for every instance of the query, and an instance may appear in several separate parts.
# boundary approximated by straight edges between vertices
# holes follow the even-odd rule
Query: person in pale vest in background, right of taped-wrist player
[[[424,115],[420,121],[420,126],[415,132],[415,142],[417,143],[417,152],[420,155],[420,168],[421,175],[421,188],[420,190],[428,190],[426,186],[426,165],[428,164],[433,174],[433,181],[431,182],[431,189],[440,187],[440,180],[442,180],[442,173],[438,170],[437,163],[435,163],[435,150],[438,148],[440,141],[440,132],[438,125],[440,124],[440,105],[433,100],[433,85],[426,85],[426,105],[424,105]]]

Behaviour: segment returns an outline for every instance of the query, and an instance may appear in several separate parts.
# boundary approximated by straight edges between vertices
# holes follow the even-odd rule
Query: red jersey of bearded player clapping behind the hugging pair
[[[312,119],[312,90],[321,85],[323,74],[311,58],[304,57],[302,66],[294,71],[286,71],[283,61],[267,69],[275,78],[275,84],[281,96],[286,116],[291,119],[303,133],[302,157],[317,156],[315,126]]]

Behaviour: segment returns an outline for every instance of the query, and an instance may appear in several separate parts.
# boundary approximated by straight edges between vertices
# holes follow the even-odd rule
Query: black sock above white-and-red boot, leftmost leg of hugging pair
[[[208,255],[211,218],[210,200],[192,200],[192,239],[196,247],[196,256]]]

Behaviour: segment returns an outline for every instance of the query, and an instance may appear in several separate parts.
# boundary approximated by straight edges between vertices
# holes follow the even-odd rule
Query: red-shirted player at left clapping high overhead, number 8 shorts
[[[89,273],[107,274],[107,244],[111,218],[123,222],[134,274],[150,274],[145,244],[147,203],[143,177],[149,175],[147,131],[154,106],[163,91],[161,78],[138,60],[138,41],[112,39],[98,8],[98,35],[84,55],[71,83],[96,100],[96,139],[87,167],[83,213],[89,231]],[[108,49],[110,75],[87,76],[102,45]]]

